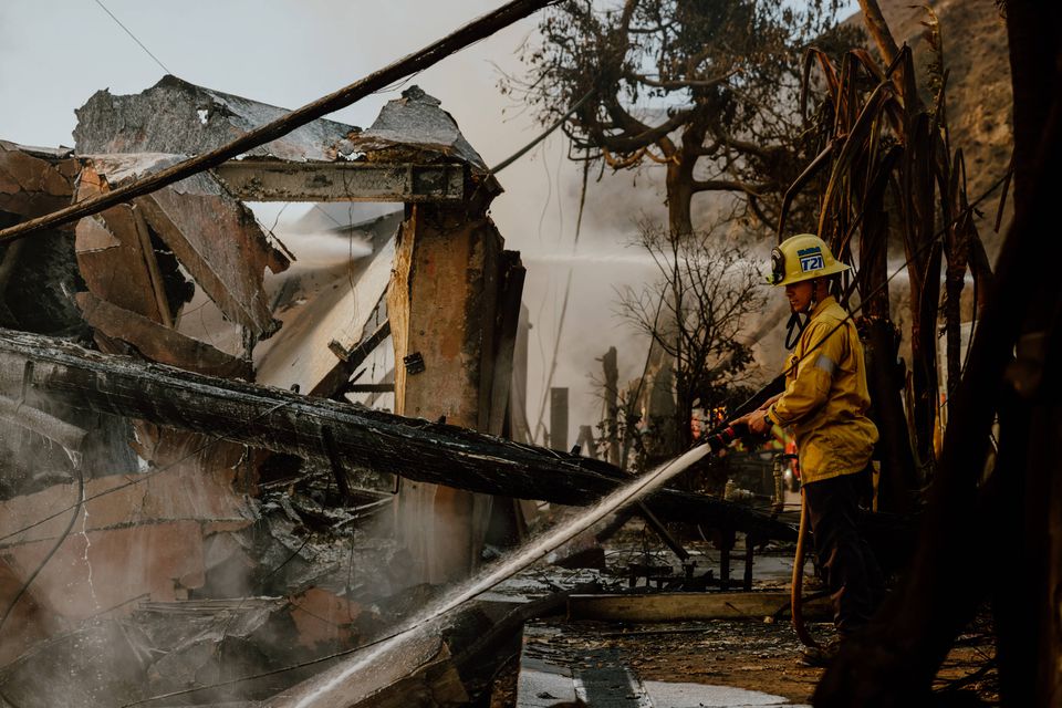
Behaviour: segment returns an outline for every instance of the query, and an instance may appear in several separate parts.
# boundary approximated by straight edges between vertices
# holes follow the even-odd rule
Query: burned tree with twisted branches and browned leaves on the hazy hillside
[[[694,197],[708,191],[743,197],[774,223],[778,196],[805,153],[787,100],[798,93],[800,48],[812,38],[851,39],[824,40],[837,4],[564,2],[542,20],[541,45],[523,55],[529,81],[510,79],[506,90],[523,95],[543,123],[579,104],[564,131],[572,158],[587,168],[664,165],[674,235],[694,231]]]

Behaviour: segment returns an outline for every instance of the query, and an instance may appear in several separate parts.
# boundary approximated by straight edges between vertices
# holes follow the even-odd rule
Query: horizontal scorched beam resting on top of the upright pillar
[[[244,201],[461,201],[466,165],[285,163],[244,159],[214,174]]]

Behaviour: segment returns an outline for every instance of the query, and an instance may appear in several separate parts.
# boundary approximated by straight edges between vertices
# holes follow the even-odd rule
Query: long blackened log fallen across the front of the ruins
[[[494,436],[92,352],[0,330],[0,392],[29,386],[82,410],[148,420],[233,442],[469,491],[585,506],[629,479],[598,460]],[[332,444],[324,442],[325,428]],[[330,455],[330,448],[332,455]],[[664,489],[646,500],[665,519],[792,539],[792,527],[729,502]]]

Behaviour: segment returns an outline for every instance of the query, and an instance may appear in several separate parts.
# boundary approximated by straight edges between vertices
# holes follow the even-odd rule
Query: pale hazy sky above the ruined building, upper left
[[[299,2],[103,0],[171,73],[221,91],[296,107],[437,39],[490,10],[493,0]],[[440,11],[445,4],[447,10]],[[429,70],[450,76],[444,103],[460,113],[493,93],[488,59],[509,61],[533,22],[510,28]],[[70,144],[73,108],[97,88],[133,93],[165,73],[95,0],[4,0],[0,4],[0,135],[23,143]],[[486,91],[485,91],[486,90]],[[387,96],[333,117],[365,124]],[[502,146],[498,146],[503,149]]]

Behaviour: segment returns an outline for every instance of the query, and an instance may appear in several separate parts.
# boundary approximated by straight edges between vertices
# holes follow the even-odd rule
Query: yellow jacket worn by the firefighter
[[[785,393],[768,413],[792,427],[805,485],[863,470],[877,441],[863,345],[846,316],[832,296],[815,305],[785,362]]]

